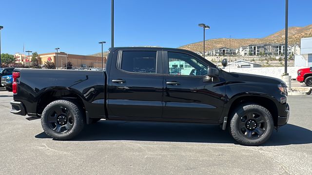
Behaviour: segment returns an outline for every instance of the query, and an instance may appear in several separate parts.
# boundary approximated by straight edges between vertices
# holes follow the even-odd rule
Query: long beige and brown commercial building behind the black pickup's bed
[[[54,64],[57,66],[57,53],[42,53],[38,54],[39,58],[39,64],[43,65],[44,62],[50,61],[54,62]],[[22,63],[24,65],[28,65],[28,55],[16,53],[15,54],[16,63]],[[30,61],[31,61],[32,55],[30,55]],[[73,67],[85,67],[85,68],[101,68],[101,57],[98,56],[88,56],[88,55],[78,55],[78,54],[69,54],[64,52],[58,53],[59,58],[59,68],[64,68],[64,64],[66,61],[70,61],[73,64]],[[104,57],[104,63],[106,61],[106,58]],[[31,63],[30,63],[31,64]],[[104,64],[105,67],[105,64]]]

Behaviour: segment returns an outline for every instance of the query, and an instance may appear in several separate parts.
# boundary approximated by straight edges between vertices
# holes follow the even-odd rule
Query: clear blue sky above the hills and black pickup
[[[1,0],[1,53],[93,54],[111,46],[111,0]],[[312,0],[289,0],[289,26],[312,24]],[[285,0],[115,0],[115,47],[179,47],[257,38],[285,27]]]

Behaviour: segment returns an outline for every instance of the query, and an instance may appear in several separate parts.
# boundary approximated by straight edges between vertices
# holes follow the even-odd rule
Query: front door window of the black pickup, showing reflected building
[[[202,76],[207,74],[208,67],[189,54],[168,52],[168,62],[171,75]]]

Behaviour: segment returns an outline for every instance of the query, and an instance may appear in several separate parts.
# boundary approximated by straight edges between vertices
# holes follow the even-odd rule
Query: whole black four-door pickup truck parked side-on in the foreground
[[[181,49],[111,48],[105,71],[15,69],[13,78],[11,112],[41,118],[57,140],[105,119],[219,124],[259,145],[289,118],[283,81],[229,73]]]

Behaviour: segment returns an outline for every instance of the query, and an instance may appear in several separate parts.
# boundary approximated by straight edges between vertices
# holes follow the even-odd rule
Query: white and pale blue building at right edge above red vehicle
[[[295,55],[294,65],[299,67],[312,67],[312,37],[301,38],[300,55]]]

